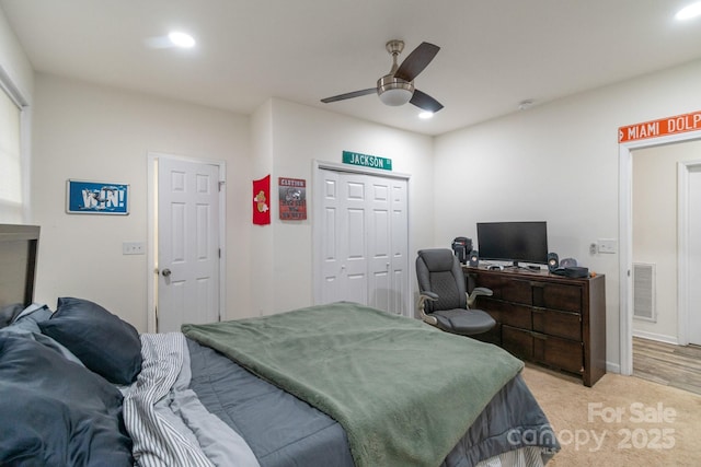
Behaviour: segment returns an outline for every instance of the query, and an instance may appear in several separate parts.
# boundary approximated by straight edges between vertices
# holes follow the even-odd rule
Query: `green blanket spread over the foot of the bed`
[[[183,332],[337,420],[357,467],[439,465],[522,367],[495,346],[353,303]]]

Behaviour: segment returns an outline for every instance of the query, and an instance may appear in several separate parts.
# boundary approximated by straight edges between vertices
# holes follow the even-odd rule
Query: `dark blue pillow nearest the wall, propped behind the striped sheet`
[[[61,297],[42,332],[115,384],[131,384],[141,371],[141,340],[130,324],[88,300]]]

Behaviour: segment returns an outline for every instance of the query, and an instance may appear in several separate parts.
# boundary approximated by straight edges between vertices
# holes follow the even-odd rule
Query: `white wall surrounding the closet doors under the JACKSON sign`
[[[253,295],[271,294],[273,308],[280,312],[313,303],[312,161],[342,162],[343,151],[392,160],[393,172],[410,174],[410,265],[418,248],[433,245],[433,138],[383,127],[332,112],[274,100],[272,103],[273,172],[275,195],[278,177],[307,180],[307,220],[280,221],[273,205],[273,268],[267,280],[253,285]],[[255,254],[253,254],[255,255]],[[413,269],[412,269],[413,271]],[[412,272],[412,285],[416,288]]]

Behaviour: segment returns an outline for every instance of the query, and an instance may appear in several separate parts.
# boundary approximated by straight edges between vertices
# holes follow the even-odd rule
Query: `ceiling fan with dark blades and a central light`
[[[325,97],[321,102],[327,104],[377,93],[380,96],[380,101],[387,105],[399,106],[411,103],[423,110],[433,113],[440,110],[443,104],[414,87],[414,78],[424,71],[424,68],[438,54],[440,47],[429,43],[421,43],[418,47],[409,54],[402,65],[397,63],[397,58],[404,50],[404,42],[390,40],[387,43],[386,48],[392,56],[392,69],[388,74],[377,80],[376,87]]]

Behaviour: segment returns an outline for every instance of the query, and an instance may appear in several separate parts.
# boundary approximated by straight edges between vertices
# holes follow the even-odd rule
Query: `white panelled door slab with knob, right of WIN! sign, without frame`
[[[219,167],[158,162],[157,331],[219,320]]]

